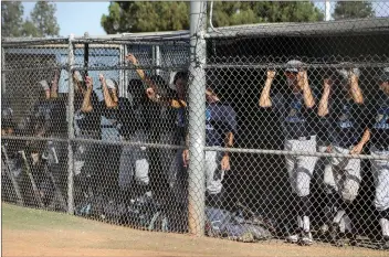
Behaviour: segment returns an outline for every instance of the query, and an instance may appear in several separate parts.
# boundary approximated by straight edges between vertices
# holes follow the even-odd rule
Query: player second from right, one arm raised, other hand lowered
[[[364,132],[364,97],[358,84],[359,69],[343,68],[337,74],[335,83],[330,79],[324,83],[318,108],[318,116],[327,116],[328,119],[330,146],[327,152],[359,154],[368,141],[368,133]],[[341,218],[346,218],[347,214],[347,219],[353,221],[351,203],[357,197],[361,180],[360,159],[335,157],[330,158],[330,165],[334,181],[328,181],[329,188],[333,188],[328,193],[336,193],[328,196],[327,204],[333,205],[329,210],[337,210],[332,221],[330,236],[333,243],[338,244],[343,240],[343,233],[339,234]],[[356,244],[353,226],[349,229],[351,243]]]

